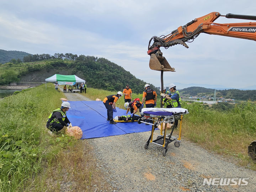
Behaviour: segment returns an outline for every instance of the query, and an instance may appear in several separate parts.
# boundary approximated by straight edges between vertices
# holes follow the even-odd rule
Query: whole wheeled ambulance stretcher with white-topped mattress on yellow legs
[[[145,149],[148,149],[149,143],[154,143],[157,145],[161,145],[164,147],[162,152],[163,156],[166,156],[168,144],[174,142],[174,146],[179,147],[181,143],[181,127],[182,127],[182,118],[184,114],[188,114],[188,110],[184,108],[143,108],[140,113],[143,117],[138,120],[138,123],[145,123],[152,125],[151,135],[144,145]],[[180,120],[180,131],[179,137],[172,137],[172,133],[174,132],[175,126],[174,122]],[[165,123],[164,133],[163,123]],[[167,123],[172,124],[171,133],[166,135],[167,131]],[[153,140],[154,130],[161,126],[160,134],[155,140]]]

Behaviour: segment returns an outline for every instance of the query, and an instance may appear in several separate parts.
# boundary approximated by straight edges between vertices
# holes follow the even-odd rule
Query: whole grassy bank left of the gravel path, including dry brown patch
[[[61,97],[48,83],[0,100],[0,191],[60,191],[63,182],[87,191],[100,182],[86,140],[47,133]]]

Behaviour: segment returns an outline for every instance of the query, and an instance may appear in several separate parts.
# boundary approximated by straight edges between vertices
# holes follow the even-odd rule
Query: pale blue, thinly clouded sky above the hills
[[[256,15],[256,1],[2,0],[0,49],[104,57],[137,78],[160,86],[160,71],[149,68],[146,52],[150,38],[169,34],[214,11]],[[236,22],[250,21],[215,20]],[[238,89],[256,85],[255,41],[201,33],[187,45],[190,48],[176,45],[161,49],[176,69],[164,72],[166,86],[172,82]]]

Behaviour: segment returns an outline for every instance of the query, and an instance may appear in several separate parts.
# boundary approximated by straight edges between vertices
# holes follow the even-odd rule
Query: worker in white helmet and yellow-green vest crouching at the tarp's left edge
[[[65,101],[62,103],[61,108],[54,110],[48,117],[46,127],[50,129],[51,132],[58,132],[63,128],[66,129],[70,121],[66,116],[66,111],[70,108],[70,103]],[[64,130],[63,129],[63,130]]]

